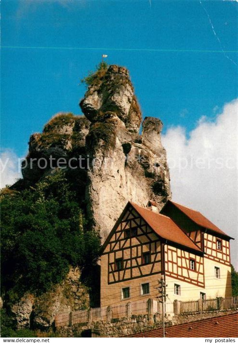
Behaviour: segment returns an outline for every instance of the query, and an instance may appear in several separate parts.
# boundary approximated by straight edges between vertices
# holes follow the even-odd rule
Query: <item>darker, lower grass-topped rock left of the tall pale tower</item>
[[[84,155],[85,138],[90,122],[84,116],[71,113],[58,113],[44,127],[43,133],[34,133],[29,141],[29,153],[22,162],[22,175],[25,182],[34,183],[49,171],[65,167],[77,155]],[[58,165],[57,165],[58,161]],[[72,165],[75,167],[75,162]]]

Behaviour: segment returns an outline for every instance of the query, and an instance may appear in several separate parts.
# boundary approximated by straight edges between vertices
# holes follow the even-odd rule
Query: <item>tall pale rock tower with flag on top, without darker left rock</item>
[[[91,121],[88,216],[104,241],[128,200],[145,206],[152,199],[161,208],[171,196],[162,123],[145,118],[139,135],[141,111],[129,73],[114,65],[89,86],[80,106]]]

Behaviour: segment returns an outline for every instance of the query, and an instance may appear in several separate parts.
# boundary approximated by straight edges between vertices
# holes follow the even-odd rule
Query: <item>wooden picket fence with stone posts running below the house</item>
[[[194,301],[175,300],[174,302],[166,302],[164,309],[166,315],[238,309],[238,296]],[[69,326],[77,323],[131,317],[132,315],[155,315],[156,313],[162,314],[161,302],[154,299],[142,299],[108,307],[60,313],[55,316],[55,326]]]

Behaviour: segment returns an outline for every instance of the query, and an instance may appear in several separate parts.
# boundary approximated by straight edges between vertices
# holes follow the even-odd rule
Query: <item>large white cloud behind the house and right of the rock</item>
[[[162,136],[172,199],[200,211],[235,238],[231,241],[231,261],[236,269],[237,120],[238,99],[225,104],[215,121],[202,117],[189,138],[182,127],[172,127]]]

